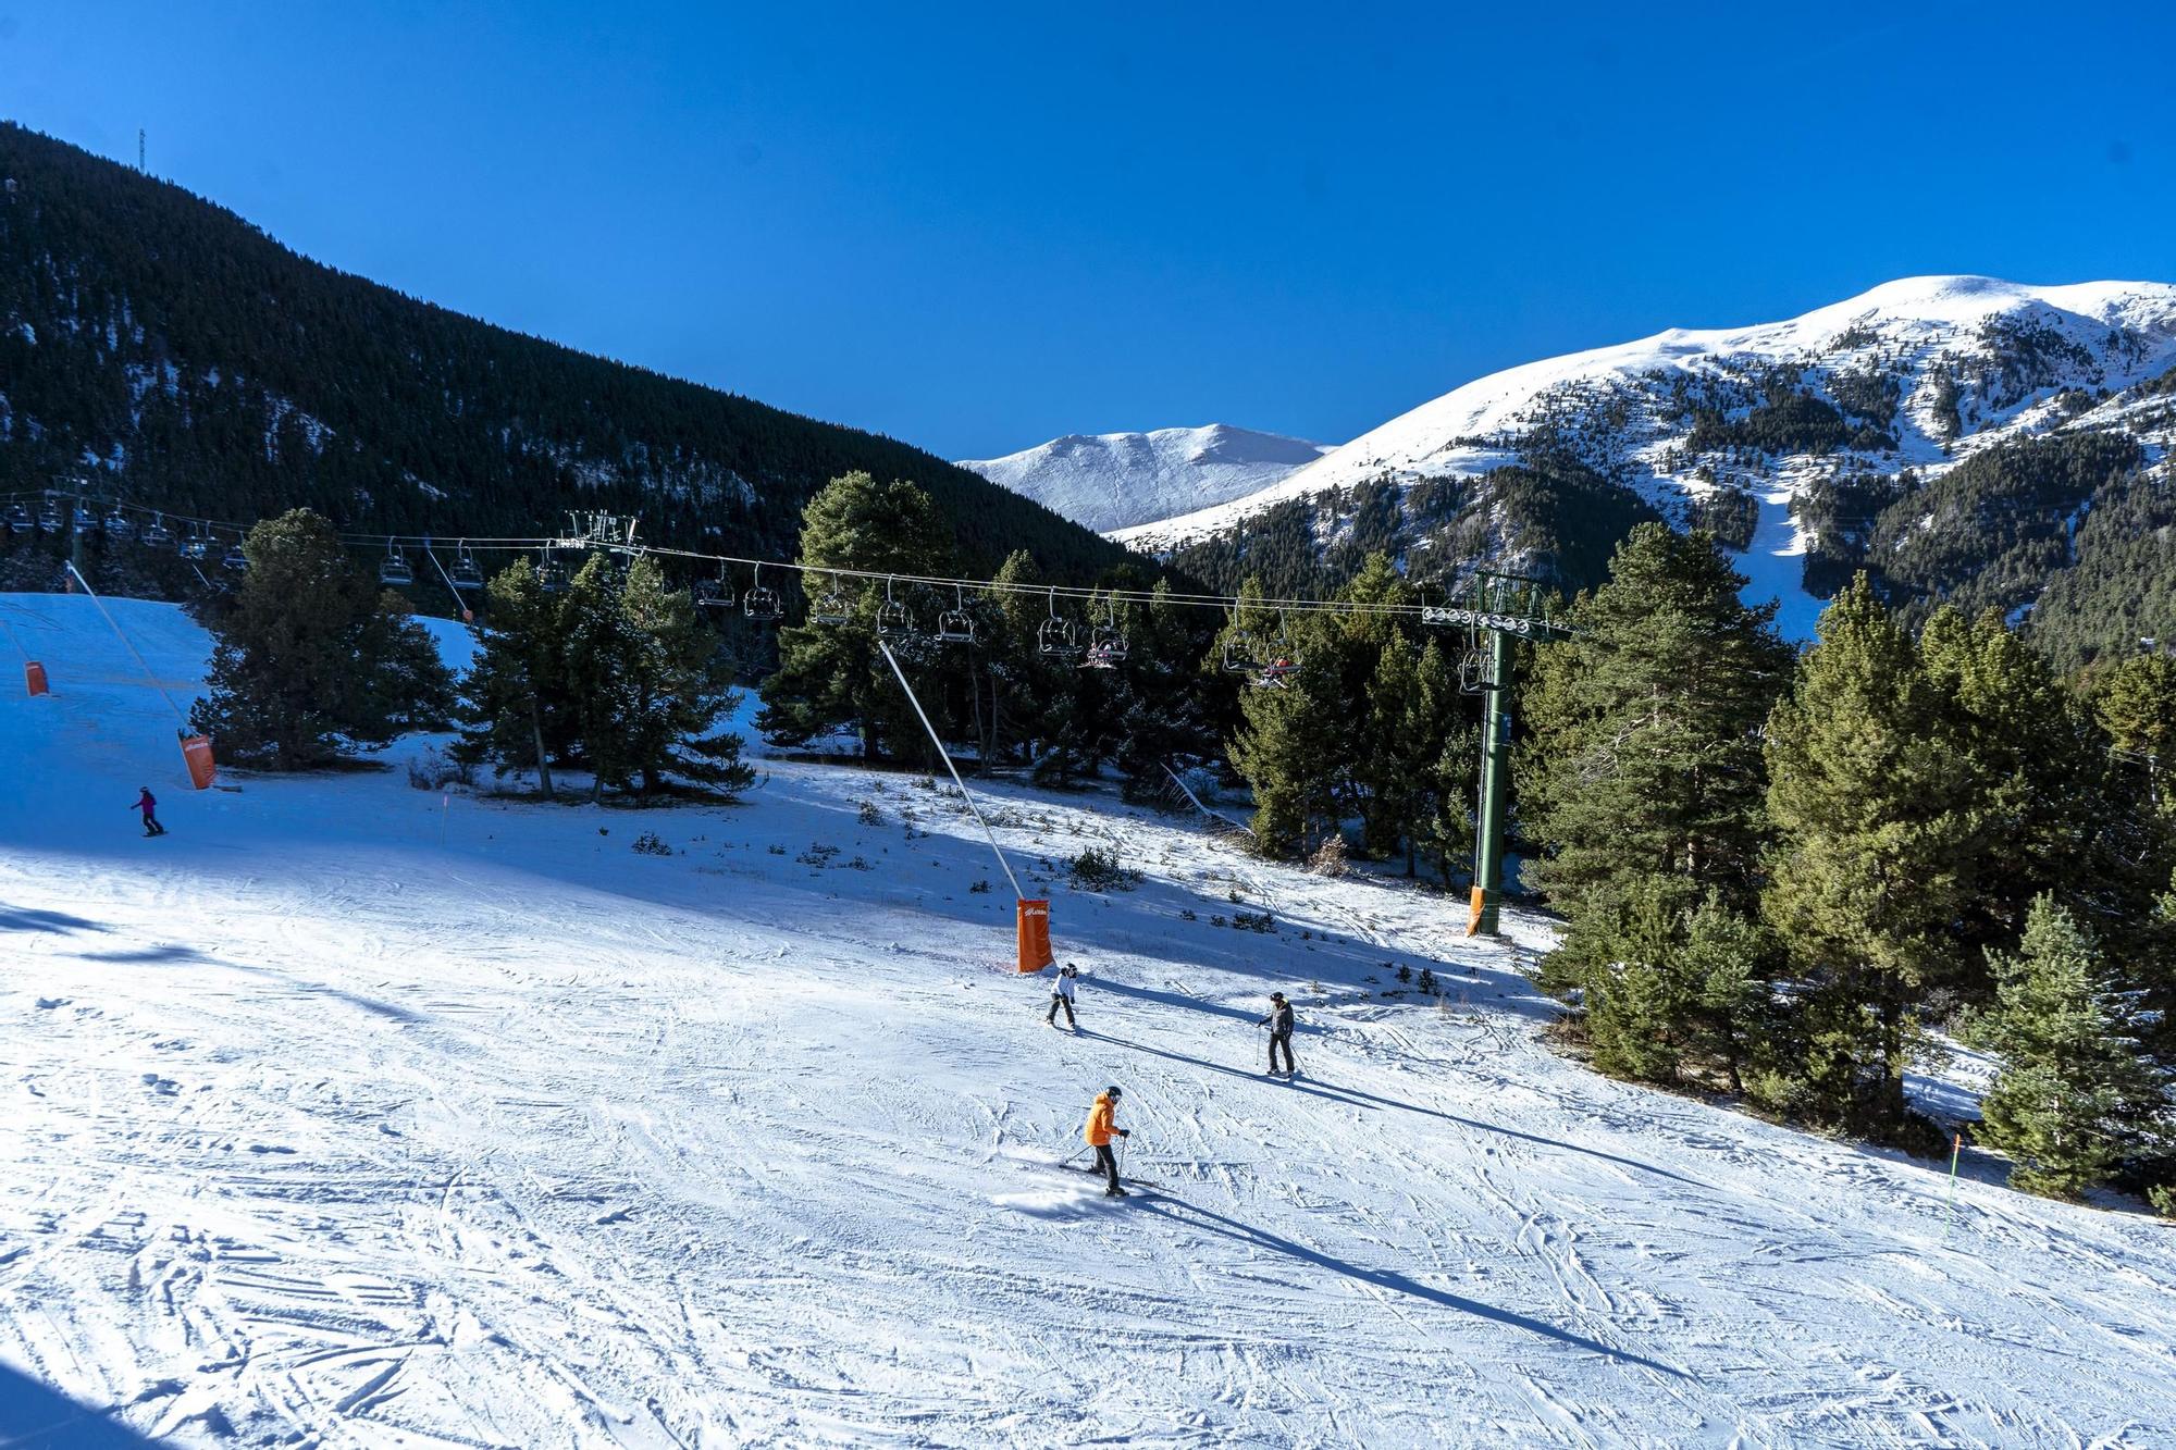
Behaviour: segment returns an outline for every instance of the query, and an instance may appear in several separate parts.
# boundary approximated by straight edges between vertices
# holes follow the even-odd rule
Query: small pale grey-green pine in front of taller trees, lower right
[[[2165,1126],[2165,1080],[2098,945],[2052,897],[2032,901],[2017,954],[1998,954],[1993,971],[1978,1041],[2002,1054],[2002,1071],[1980,1104],[1980,1141],[2015,1158],[2019,1189],[2076,1197]]]

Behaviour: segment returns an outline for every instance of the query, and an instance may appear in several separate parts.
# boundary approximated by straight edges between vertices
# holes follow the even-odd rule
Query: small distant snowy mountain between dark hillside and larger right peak
[[[1075,433],[960,466],[1073,523],[1108,531],[1258,494],[1323,453],[1323,444],[1212,422],[1153,433]]]

